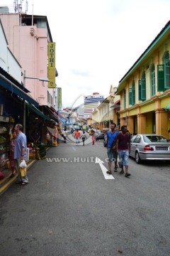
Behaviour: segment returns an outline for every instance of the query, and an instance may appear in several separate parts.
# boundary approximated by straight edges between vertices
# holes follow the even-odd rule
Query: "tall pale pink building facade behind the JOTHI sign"
[[[8,48],[21,64],[23,85],[40,105],[52,106],[56,109],[56,89],[48,88],[47,82],[35,79],[47,79],[47,46],[48,42],[52,42],[47,17],[33,16],[32,18],[26,14],[0,14],[0,18],[6,33]],[[24,79],[24,73],[26,79]]]

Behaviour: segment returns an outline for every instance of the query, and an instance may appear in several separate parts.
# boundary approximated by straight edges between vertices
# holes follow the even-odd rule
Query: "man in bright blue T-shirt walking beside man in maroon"
[[[108,171],[107,174],[112,174],[111,166],[112,162],[115,163],[114,171],[117,171],[117,159],[118,153],[116,151],[116,138],[118,136],[118,132],[115,131],[116,124],[111,124],[111,131],[108,131],[107,134],[107,154],[108,154]]]

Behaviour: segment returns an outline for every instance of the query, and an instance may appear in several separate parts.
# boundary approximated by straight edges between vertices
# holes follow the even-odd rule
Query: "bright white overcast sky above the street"
[[[32,9],[47,16],[56,42],[63,107],[92,92],[107,97],[170,19],[170,0],[28,0]]]

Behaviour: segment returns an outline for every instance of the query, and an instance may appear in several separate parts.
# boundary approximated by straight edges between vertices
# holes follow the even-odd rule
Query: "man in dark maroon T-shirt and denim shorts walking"
[[[122,170],[120,174],[124,174],[123,166],[125,166],[125,177],[129,177],[129,154],[130,154],[130,133],[127,132],[127,125],[121,127],[122,132],[118,134],[116,139],[116,149],[119,155],[120,166]]]

